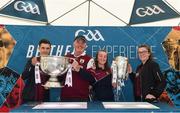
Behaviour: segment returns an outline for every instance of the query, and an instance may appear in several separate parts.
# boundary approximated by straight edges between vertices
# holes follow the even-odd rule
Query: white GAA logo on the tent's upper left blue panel
[[[17,11],[25,11],[27,13],[40,15],[38,5],[33,2],[17,1],[14,4],[14,9]]]

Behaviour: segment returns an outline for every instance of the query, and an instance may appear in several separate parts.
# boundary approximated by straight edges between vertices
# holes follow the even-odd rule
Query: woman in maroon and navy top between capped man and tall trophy
[[[112,73],[108,66],[107,52],[100,50],[96,54],[95,66],[88,70],[74,66],[80,75],[92,84],[94,101],[114,101]]]

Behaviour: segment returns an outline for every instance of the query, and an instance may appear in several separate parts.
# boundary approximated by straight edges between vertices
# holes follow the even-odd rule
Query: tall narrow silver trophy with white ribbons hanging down
[[[124,80],[128,78],[127,66],[128,66],[128,58],[123,57],[123,56],[117,56],[112,62],[112,65],[111,65],[112,83],[117,84],[115,101],[119,101],[121,87],[125,86]]]

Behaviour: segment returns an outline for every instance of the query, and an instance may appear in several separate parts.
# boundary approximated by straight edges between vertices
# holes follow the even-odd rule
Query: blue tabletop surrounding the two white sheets
[[[58,103],[58,102],[57,102]],[[60,103],[60,102],[59,102]],[[69,102],[71,103],[71,102]],[[122,104],[121,102],[114,102],[116,104]],[[130,102],[123,102],[129,104]],[[131,102],[133,103],[133,102]],[[136,104],[136,102],[134,102]],[[166,103],[153,103],[153,105],[159,107],[160,109],[137,109],[137,108],[119,108],[119,109],[105,109],[102,102],[87,102],[87,109],[32,109],[40,103],[27,103],[20,107],[13,109],[11,112],[138,112],[138,113],[180,113],[179,108],[169,106]],[[138,102],[137,102],[138,104]]]

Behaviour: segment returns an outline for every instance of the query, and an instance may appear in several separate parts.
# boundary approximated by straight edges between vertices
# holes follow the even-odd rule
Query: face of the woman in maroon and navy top
[[[104,65],[107,61],[107,53],[104,51],[99,51],[97,60],[98,60],[98,64]]]

